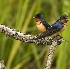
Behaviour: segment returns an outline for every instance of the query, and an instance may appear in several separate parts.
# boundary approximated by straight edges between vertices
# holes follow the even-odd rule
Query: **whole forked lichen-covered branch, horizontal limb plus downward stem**
[[[52,56],[54,54],[56,46],[60,45],[63,41],[65,41],[63,40],[63,37],[61,37],[60,35],[53,38],[45,37],[45,38],[38,39],[37,38],[38,35],[34,36],[30,34],[21,33],[19,30],[11,29],[2,24],[0,24],[0,32],[5,34],[8,37],[14,38],[16,40],[20,40],[25,43],[51,45],[48,52],[48,58],[47,58],[46,67],[45,67],[47,69],[51,68]]]

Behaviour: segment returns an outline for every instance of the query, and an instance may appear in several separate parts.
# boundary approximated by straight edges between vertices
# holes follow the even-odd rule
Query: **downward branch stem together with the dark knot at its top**
[[[51,68],[52,58],[53,58],[56,46],[58,44],[61,44],[62,41],[64,41],[64,40],[59,41],[60,38],[62,40],[62,37],[60,37],[60,36],[56,36],[56,37],[53,38],[53,42],[52,42],[52,44],[49,48],[49,52],[48,52],[48,56],[47,56],[47,61],[46,61],[46,66],[45,66],[46,69]]]

